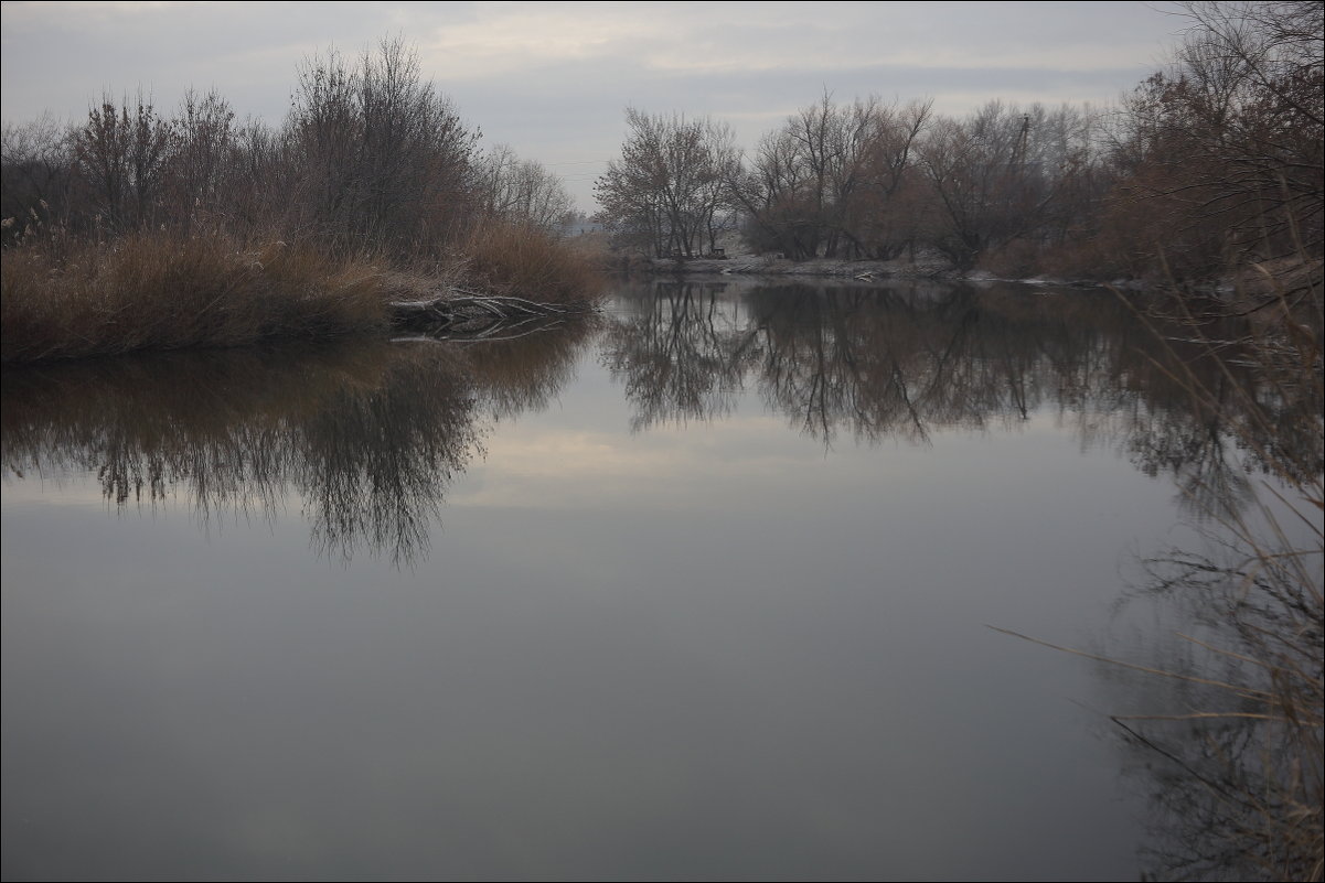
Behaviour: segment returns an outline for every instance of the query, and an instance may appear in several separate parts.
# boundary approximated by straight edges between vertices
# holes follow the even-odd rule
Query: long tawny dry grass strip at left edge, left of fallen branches
[[[380,330],[409,279],[374,259],[224,236],[136,233],[4,253],[4,361],[235,347]]]

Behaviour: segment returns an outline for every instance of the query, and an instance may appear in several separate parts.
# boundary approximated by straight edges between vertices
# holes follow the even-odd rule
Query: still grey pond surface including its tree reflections
[[[641,285],[7,369],[4,875],[1134,878],[1117,683],[986,626],[1146,633],[1227,471],[1147,346],[1108,294]]]

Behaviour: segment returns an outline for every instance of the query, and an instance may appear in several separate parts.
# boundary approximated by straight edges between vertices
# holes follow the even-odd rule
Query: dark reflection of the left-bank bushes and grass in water
[[[94,471],[117,507],[183,495],[199,519],[273,519],[301,494],[313,543],[409,564],[481,414],[546,400],[584,332],[506,342],[519,369],[436,343],[164,353],[4,372],[4,469]],[[490,357],[490,356],[485,356]],[[523,359],[523,361],[521,361]]]

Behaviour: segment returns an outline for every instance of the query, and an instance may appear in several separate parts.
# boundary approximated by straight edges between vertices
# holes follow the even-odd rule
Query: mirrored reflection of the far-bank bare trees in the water
[[[1248,384],[1247,372],[1157,340],[1112,294],[726,287],[657,285],[608,330],[606,363],[625,384],[635,429],[726,414],[747,385],[825,445],[840,433],[922,442],[935,429],[1053,409],[1086,445],[1118,445],[1147,474],[1179,475],[1202,506],[1246,500],[1239,459],[1255,451],[1230,443],[1239,412],[1194,409],[1174,367],[1215,388]]]

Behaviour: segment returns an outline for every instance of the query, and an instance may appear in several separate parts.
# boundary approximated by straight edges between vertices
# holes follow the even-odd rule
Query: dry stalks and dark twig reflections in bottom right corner
[[[1293,515],[1310,518],[1320,500],[1316,488]],[[1320,880],[1320,520],[1295,531],[1256,508],[1218,532],[1219,553],[1149,563],[1149,592],[1183,622],[1146,651],[1157,661],[1027,639],[1133,675],[1121,679],[1126,702],[1146,714],[1112,720],[1149,777],[1155,879]]]

